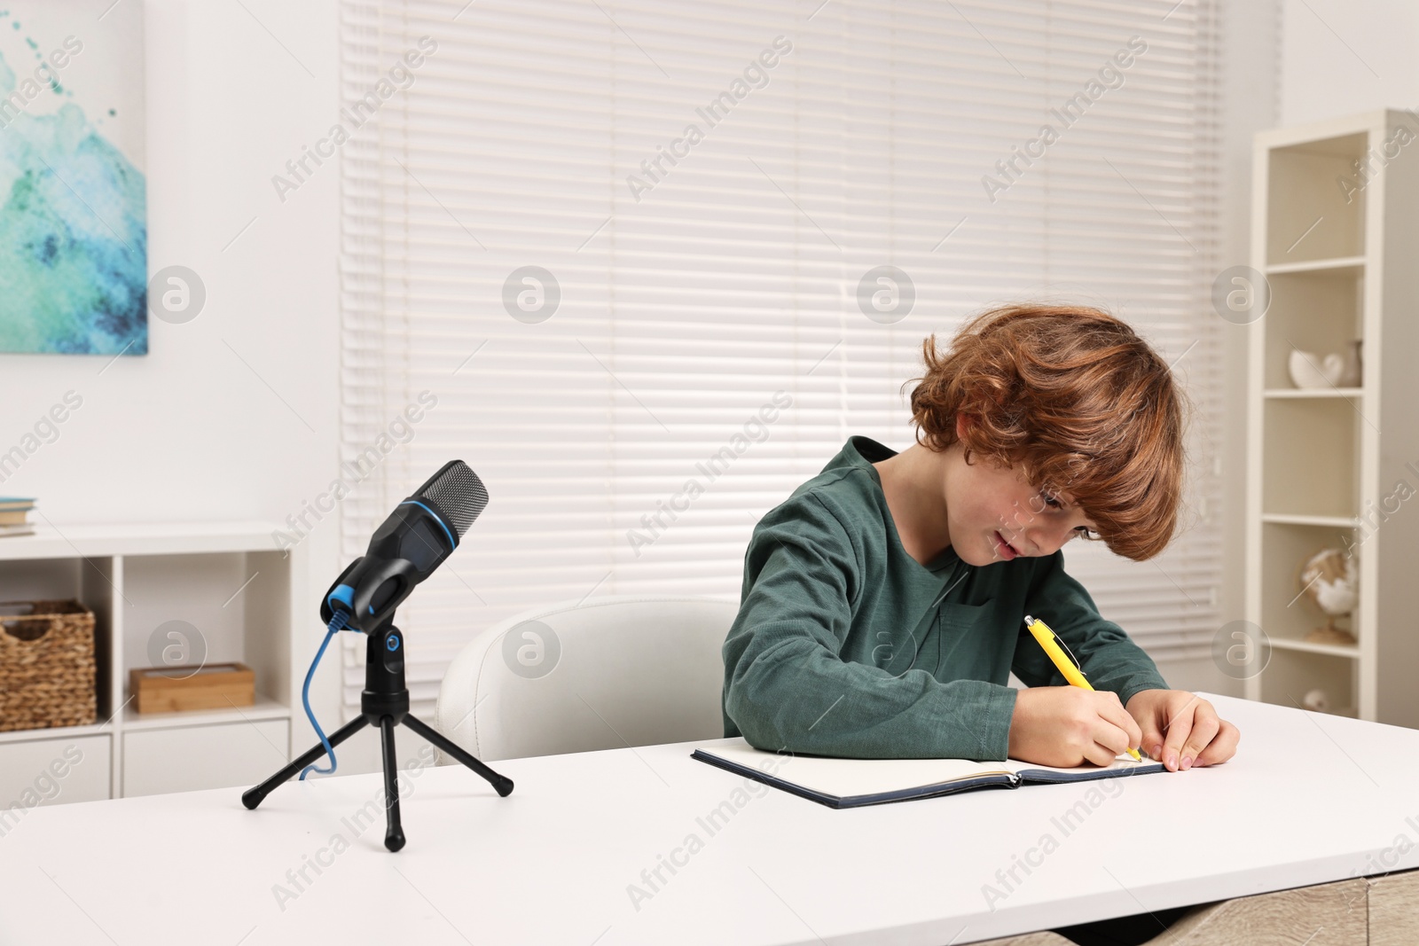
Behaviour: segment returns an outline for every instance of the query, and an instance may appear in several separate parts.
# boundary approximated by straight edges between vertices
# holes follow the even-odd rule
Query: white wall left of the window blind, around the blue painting
[[[207,291],[201,313],[184,325],[150,318],[150,353],[102,376],[109,356],[0,355],[0,450],[64,391],[84,397],[58,440],[0,486],[37,496],[61,529],[284,522],[338,475],[339,167],[328,162],[284,204],[271,186],[335,121],[338,10],[335,0],[244,4],[143,3],[149,272],[194,269]],[[85,40],[102,41],[101,24]],[[314,655],[319,596],[342,564],[338,515],[307,543],[311,606],[298,630]],[[332,648],[312,686],[326,730],[341,722],[338,662]],[[298,746],[315,742],[304,713],[295,732]],[[400,740],[402,756],[421,742]],[[358,742],[346,743],[341,772],[377,766],[377,739]]]

